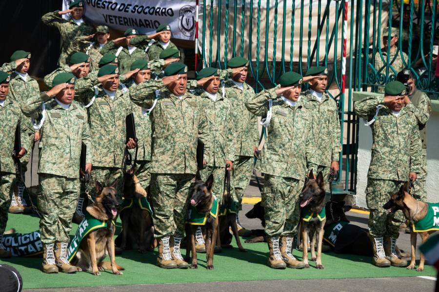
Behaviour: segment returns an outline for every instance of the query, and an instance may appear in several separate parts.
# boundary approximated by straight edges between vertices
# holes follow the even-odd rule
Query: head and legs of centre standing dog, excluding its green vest
[[[197,176],[199,177],[199,176]],[[192,196],[190,199],[190,204],[195,207],[200,214],[209,214],[212,209],[214,202],[214,196],[212,194],[212,184],[213,175],[211,174],[207,181],[204,183],[200,179],[197,179],[194,187],[192,188]],[[186,236],[188,237],[186,245],[186,262],[189,262],[190,253],[192,251],[192,264],[191,269],[198,268],[197,262],[197,251],[195,250],[195,232],[197,231],[199,225],[186,224]],[[215,243],[217,239],[217,228],[218,228],[218,216],[213,218],[208,215],[206,225],[203,226],[206,233],[206,258],[207,258],[207,269],[213,270],[213,256],[215,250]]]

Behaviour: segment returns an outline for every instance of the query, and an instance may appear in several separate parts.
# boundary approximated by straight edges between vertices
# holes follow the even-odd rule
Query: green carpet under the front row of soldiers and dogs
[[[38,230],[38,218],[26,215],[9,215],[7,228],[16,228],[17,232],[27,233]],[[76,225],[72,235],[76,231]],[[155,265],[157,251],[140,254],[127,251],[117,256],[119,265],[126,270],[117,276],[104,272],[95,276],[88,272],[77,274],[43,274],[40,272],[40,258],[13,257],[0,263],[14,266],[23,278],[23,288],[60,288],[79,286],[106,286],[156,283],[185,283],[243,280],[284,280],[284,279],[323,279],[323,278],[371,278],[402,276],[435,276],[433,267],[425,267],[424,272],[409,271],[404,268],[377,268],[370,264],[371,258],[351,255],[324,254],[324,270],[317,270],[315,262],[310,262],[309,269],[273,270],[267,266],[268,248],[265,243],[243,243],[247,253],[237,248],[223,250],[214,256],[215,270],[206,270],[205,255],[199,257],[197,270],[163,270]],[[294,252],[301,258],[301,253]]]

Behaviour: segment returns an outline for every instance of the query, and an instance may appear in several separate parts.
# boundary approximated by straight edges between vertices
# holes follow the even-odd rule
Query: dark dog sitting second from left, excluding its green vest
[[[124,174],[123,197],[133,200],[147,197],[133,169],[127,170]],[[122,221],[121,249],[138,248],[140,253],[154,249],[153,220],[147,210],[133,204],[132,208],[120,212],[120,220]],[[116,241],[119,240],[116,239]]]

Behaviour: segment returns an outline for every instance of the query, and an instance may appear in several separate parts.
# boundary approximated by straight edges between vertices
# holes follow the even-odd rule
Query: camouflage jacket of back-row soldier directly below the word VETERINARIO
[[[115,44],[114,41],[110,40],[107,42],[102,49],[100,49],[100,54],[114,54],[116,55],[120,46]],[[126,47],[123,47],[119,55],[117,55],[119,61],[119,73],[124,74],[130,71],[131,64],[137,59],[143,59],[148,61],[148,55],[145,53],[144,47],[137,47],[136,50],[130,55],[130,52]]]

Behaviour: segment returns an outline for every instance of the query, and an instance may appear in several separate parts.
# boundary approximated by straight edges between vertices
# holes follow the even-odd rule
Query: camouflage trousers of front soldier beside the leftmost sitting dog
[[[69,242],[72,218],[80,195],[80,180],[40,173],[41,194],[37,198],[40,210],[40,236],[46,244]]]

